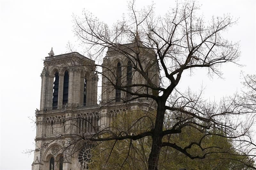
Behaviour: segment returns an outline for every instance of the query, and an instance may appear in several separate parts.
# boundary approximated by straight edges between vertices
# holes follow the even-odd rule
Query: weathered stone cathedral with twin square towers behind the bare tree
[[[133,48],[133,43],[125,44],[125,47]],[[131,94],[109,83],[111,79],[116,85],[146,83],[140,74],[132,72],[131,61],[116,50],[108,49],[100,72],[96,70],[95,61],[77,52],[54,55],[51,50],[48,54],[41,73],[40,109],[36,109],[36,148],[32,170],[89,169],[87,163],[91,158],[92,144],[71,149],[69,146],[79,145],[77,137],[81,134],[90,136],[108,128],[116,114],[122,111],[154,109],[154,102],[146,97],[129,100]],[[150,63],[151,56],[150,52],[145,52],[141,56],[145,58],[143,64]],[[116,77],[108,75],[110,72],[114,72]],[[99,73],[102,85],[100,101],[97,102]],[[157,85],[159,78],[153,76],[156,73],[157,67],[148,71]],[[126,90],[153,93],[147,87],[127,87]]]

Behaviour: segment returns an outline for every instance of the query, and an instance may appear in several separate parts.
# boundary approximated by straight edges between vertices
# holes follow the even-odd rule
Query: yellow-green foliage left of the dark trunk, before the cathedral
[[[111,131],[118,135],[149,131],[154,117],[154,114],[144,111],[128,110],[116,116]],[[109,134],[103,137],[109,137]],[[136,141],[126,139],[100,142],[92,151],[93,158],[89,166],[92,169],[147,169],[151,140],[151,137],[144,137]]]

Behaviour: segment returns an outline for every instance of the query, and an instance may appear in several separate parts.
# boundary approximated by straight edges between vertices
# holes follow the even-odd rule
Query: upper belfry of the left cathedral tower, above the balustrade
[[[51,50],[48,54],[41,74],[40,110],[96,105],[94,61],[76,52],[54,55]]]

